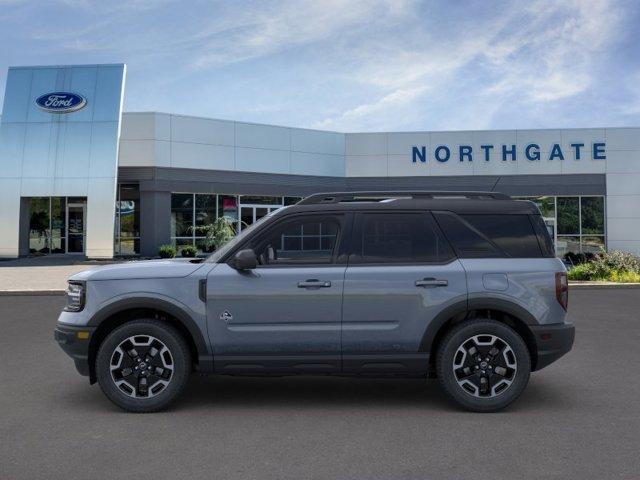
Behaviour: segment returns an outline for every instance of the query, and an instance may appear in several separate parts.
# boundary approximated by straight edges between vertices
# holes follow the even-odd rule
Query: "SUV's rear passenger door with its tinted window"
[[[345,273],[343,371],[420,373],[425,331],[443,309],[466,307],[464,269],[429,212],[355,218]]]

